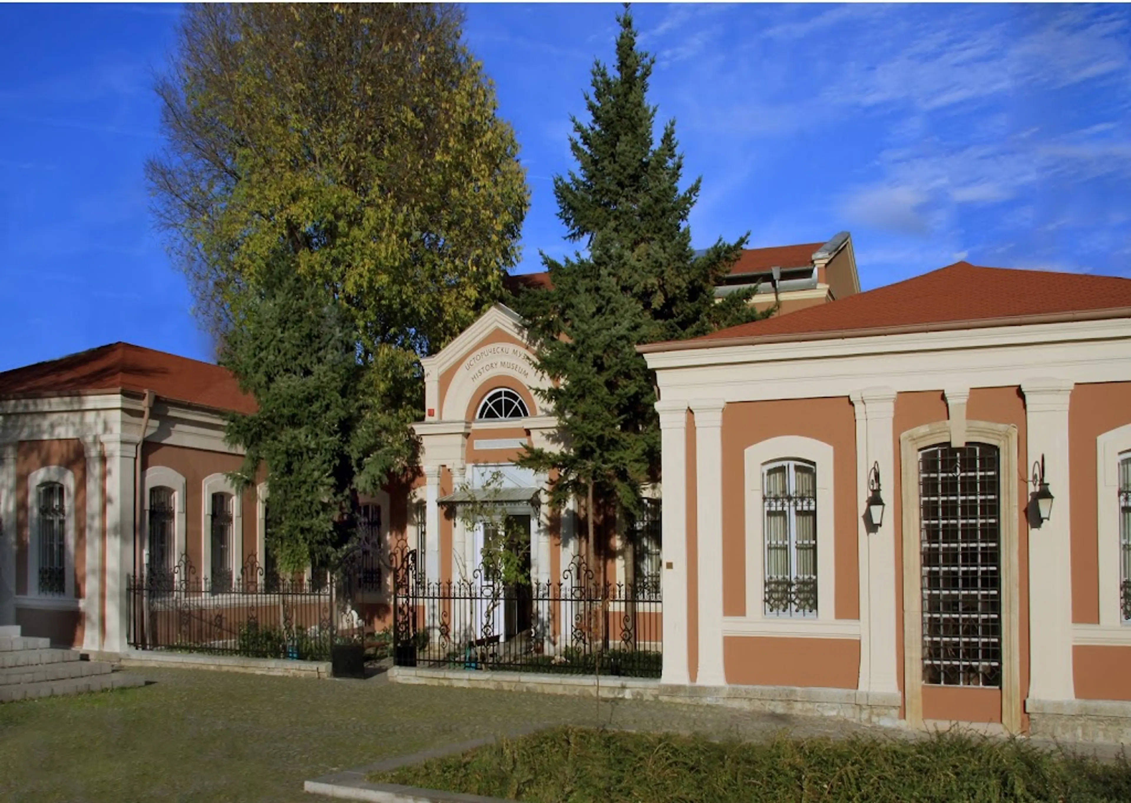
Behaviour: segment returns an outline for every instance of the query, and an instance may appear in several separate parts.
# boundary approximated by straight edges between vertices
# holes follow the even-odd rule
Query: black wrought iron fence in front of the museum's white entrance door
[[[658,677],[654,584],[608,584],[577,558],[554,581],[502,584],[481,570],[429,581],[416,551],[391,556],[394,662],[433,668]]]

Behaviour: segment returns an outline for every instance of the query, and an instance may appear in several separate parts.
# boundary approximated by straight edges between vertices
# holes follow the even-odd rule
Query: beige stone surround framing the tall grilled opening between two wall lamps
[[[967,421],[970,441],[999,450],[1001,560],[1001,722],[1009,733],[1021,729],[1020,567],[1018,533],[1017,426]],[[918,452],[949,443],[950,423],[924,424],[900,434],[904,543],[904,694],[907,724],[923,727],[923,596],[921,588]]]

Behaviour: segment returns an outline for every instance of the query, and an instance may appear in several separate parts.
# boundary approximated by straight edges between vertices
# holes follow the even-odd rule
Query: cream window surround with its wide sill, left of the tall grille
[[[836,619],[836,538],[834,450],[803,435],[768,438],[746,447],[744,463],[746,612],[724,616],[724,636],[787,638],[860,638],[860,620]],[[765,613],[765,517],[762,470],[783,460],[809,463],[817,470],[817,615],[767,616]]]

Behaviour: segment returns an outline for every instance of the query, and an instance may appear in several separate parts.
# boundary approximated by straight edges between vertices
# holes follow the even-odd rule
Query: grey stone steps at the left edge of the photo
[[[145,679],[84,660],[77,649],[52,648],[50,639],[21,636],[18,627],[0,628],[0,702],[138,685]]]

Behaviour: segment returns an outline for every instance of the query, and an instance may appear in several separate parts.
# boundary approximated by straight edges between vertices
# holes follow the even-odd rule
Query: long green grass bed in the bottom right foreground
[[[742,743],[559,727],[370,779],[525,803],[1131,801],[1123,757],[955,734]]]

